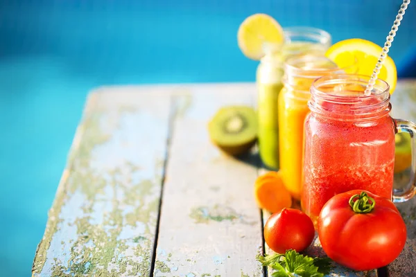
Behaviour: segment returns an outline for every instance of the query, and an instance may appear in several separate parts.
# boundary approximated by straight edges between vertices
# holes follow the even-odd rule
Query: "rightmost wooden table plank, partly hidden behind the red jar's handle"
[[[392,94],[392,116],[416,123],[416,80],[399,80]],[[395,175],[395,187],[406,186],[410,170]],[[416,276],[416,197],[396,205],[407,226],[408,238],[400,256],[388,265],[390,277]]]

